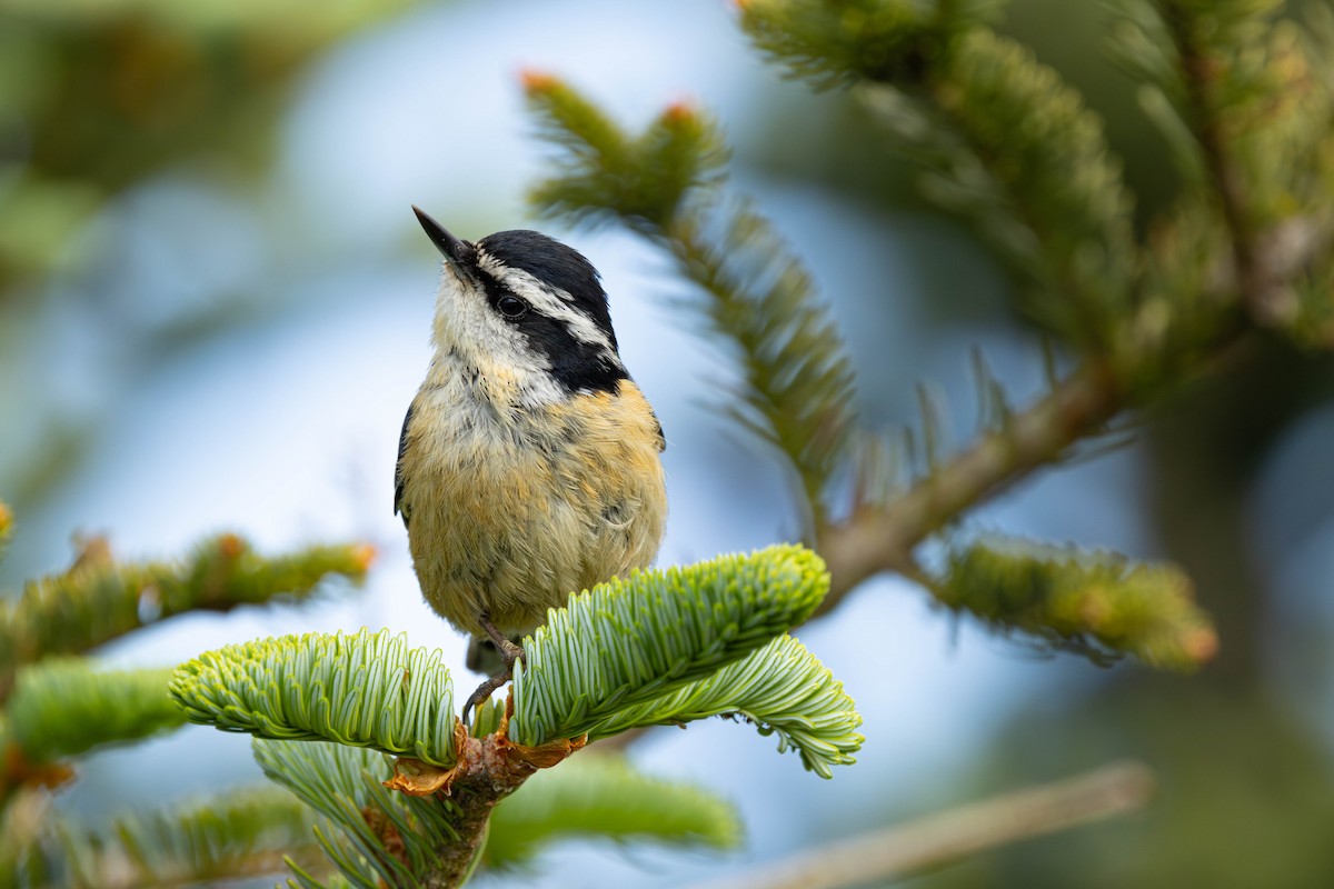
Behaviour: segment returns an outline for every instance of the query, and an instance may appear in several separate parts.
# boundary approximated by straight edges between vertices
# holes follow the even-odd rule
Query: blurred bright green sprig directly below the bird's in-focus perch
[[[638,772],[623,757],[584,754],[532,776],[491,817],[488,869],[518,868],[562,838],[732,849],[736,809],[714,793]]]

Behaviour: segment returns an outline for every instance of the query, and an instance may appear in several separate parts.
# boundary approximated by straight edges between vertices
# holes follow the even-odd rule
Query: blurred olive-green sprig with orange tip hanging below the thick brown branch
[[[1150,666],[1194,670],[1218,650],[1175,565],[994,538],[954,549],[934,585],[954,610],[1099,661],[1133,654]]]

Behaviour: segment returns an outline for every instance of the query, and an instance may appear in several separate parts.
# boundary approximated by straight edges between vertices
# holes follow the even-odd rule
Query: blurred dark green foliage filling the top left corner
[[[418,0],[7,0],[0,5],[0,304],[73,261],[104,201],[176,165],[263,169],[291,85]]]

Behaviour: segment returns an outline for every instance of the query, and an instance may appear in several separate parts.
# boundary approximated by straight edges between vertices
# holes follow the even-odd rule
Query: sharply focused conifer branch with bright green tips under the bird
[[[229,645],[177,668],[169,690],[191,721],[256,736],[265,772],[338,825],[319,842],[348,880],[455,886],[496,805],[590,736],[726,713],[776,732],[780,750],[824,777],[851,762],[860,717],[783,636],[827,588],[819,557],[791,545],[600,584],[548,612],[524,640],[510,706],[479,708],[472,733],[454,716],[439,652],[408,652],[387,632]],[[367,778],[375,757],[347,745],[406,754],[386,785],[422,802],[387,802]],[[296,872],[293,885],[321,884]]]

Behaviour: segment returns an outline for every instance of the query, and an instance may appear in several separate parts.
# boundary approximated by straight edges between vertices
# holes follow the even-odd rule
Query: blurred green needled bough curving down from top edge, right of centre
[[[1107,352],[1134,297],[1121,163],[1079,95],[982,24],[994,5],[748,0],[740,24],[814,87],[860,85],[894,148],[930,171],[928,197],[976,223],[1022,271],[1025,308]]]

